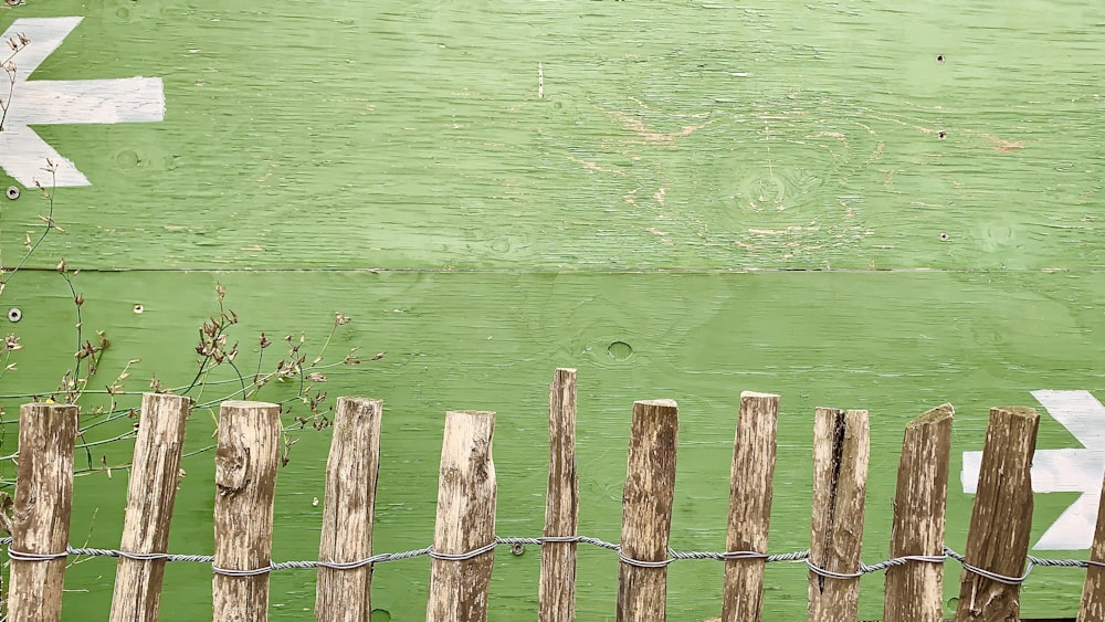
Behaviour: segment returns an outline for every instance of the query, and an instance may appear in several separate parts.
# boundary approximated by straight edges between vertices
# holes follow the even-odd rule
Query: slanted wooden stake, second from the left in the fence
[[[168,549],[191,403],[191,398],[181,396],[143,394],[119,550],[140,554]],[[164,559],[119,558],[110,621],[157,620],[164,577]]]

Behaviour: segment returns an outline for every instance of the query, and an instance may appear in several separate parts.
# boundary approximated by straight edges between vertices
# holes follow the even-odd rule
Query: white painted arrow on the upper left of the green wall
[[[59,165],[57,186],[88,186],[88,179],[69,159],[31,129],[32,125],[135,123],[165,119],[161,78],[28,80],[57,50],[82,18],[24,18],[0,34],[0,40],[25,35],[30,43],[12,59],[15,83],[8,115],[0,129],[0,167],[27,187],[39,178],[50,182],[42,168],[46,159]],[[6,49],[3,46],[2,49]],[[7,81],[0,74],[0,85]],[[2,91],[7,91],[2,88]],[[7,93],[0,93],[8,99]]]

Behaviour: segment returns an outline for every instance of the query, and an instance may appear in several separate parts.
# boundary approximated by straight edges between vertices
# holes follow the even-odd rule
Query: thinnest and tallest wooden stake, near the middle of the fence
[[[576,370],[557,369],[549,386],[549,483],[545,537],[576,535],[579,477],[576,475]],[[541,545],[537,591],[541,622],[576,619],[576,542]]]

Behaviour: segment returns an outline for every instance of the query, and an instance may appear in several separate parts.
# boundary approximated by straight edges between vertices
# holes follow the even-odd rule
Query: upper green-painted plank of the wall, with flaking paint
[[[57,0],[2,17],[57,15],[84,21],[33,80],[156,76],[165,119],[36,126],[91,186],[57,192],[67,233],[34,265],[1105,265],[1105,54],[1077,3]],[[50,104],[29,95],[12,105]],[[6,264],[45,209],[6,204]]]

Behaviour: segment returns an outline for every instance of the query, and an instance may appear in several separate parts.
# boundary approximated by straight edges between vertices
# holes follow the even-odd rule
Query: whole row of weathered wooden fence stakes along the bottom
[[[145,396],[110,619],[158,616],[170,517],[189,400]],[[550,466],[538,619],[575,619],[576,372],[558,369],[549,390]],[[759,620],[768,545],[778,396],[745,392],[734,435],[730,516],[722,618]],[[379,473],[382,404],[340,399],[326,466],[319,542],[317,620],[368,622],[372,514]],[[818,409],[814,495],[809,552],[809,618],[856,620],[869,462],[866,411]],[[906,426],[897,477],[891,554],[906,558],[886,570],[886,622],[943,620],[945,510],[953,409],[944,404]],[[20,409],[9,619],[61,618],[73,447],[77,409],[33,403]],[[441,453],[438,517],[427,620],[483,622],[494,568],[495,414],[449,412]],[[1039,417],[1032,409],[993,409],[967,539],[956,622],[1014,620],[1019,587],[987,576],[1024,570],[1031,527],[1030,467]],[[215,452],[213,620],[267,619],[280,407],[225,402]],[[623,491],[617,618],[662,621],[666,612],[667,541],[675,483],[678,409],[674,401],[633,404]],[[1105,483],[1103,483],[1105,491]],[[1105,495],[1103,495],[1105,496]],[[0,519],[2,521],[2,519]],[[143,557],[143,556],[152,557]],[[1105,622],[1105,500],[1078,622]],[[345,563],[356,568],[336,568]],[[1029,621],[1025,621],[1029,622]],[[1042,622],[1042,621],[1040,621]]]

